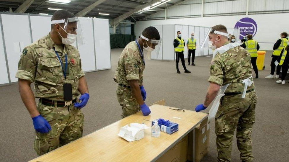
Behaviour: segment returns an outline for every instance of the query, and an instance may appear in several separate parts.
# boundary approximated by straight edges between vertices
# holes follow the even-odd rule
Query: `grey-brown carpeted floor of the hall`
[[[121,51],[111,50],[112,70],[86,73],[91,97],[82,109],[84,135],[121,119],[121,107],[115,94],[117,84],[113,81]],[[252,133],[253,154],[255,161],[285,162],[289,159],[289,84],[288,81],[285,85],[276,84],[276,79],[264,78],[269,74],[271,53],[266,55],[265,70],[259,71],[259,79],[254,79],[258,103]],[[168,106],[194,110],[195,105],[204,101],[211,59],[197,57],[197,66],[187,66],[192,71],[190,74],[183,73],[181,63],[182,73],[177,74],[174,61],[147,60],[144,72],[146,103],[165,99]],[[32,120],[20,99],[18,85],[1,86],[0,99],[0,161],[28,161],[37,157],[33,150]],[[211,124],[209,153],[202,161],[216,161],[214,131],[214,124]],[[232,161],[240,161],[236,138],[233,139]]]

